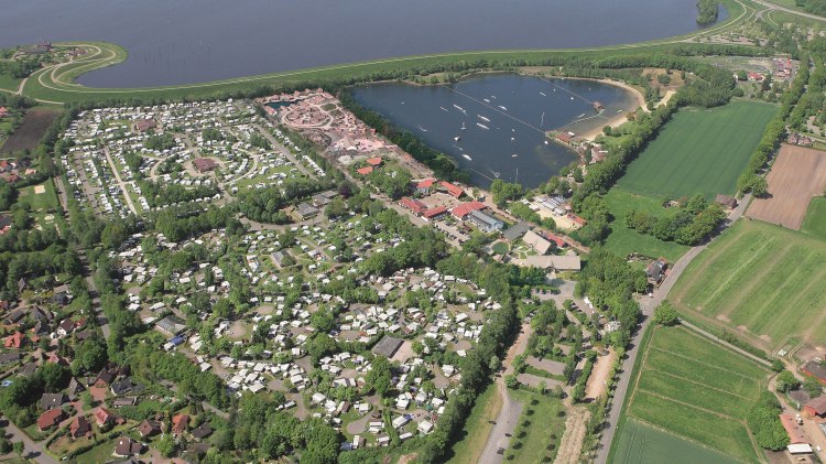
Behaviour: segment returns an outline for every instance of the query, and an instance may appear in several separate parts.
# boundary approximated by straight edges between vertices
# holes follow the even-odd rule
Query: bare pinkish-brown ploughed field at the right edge
[[[812,196],[826,187],[826,152],[784,144],[767,180],[770,196],[751,202],[746,216],[798,230]]]

